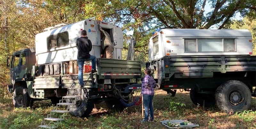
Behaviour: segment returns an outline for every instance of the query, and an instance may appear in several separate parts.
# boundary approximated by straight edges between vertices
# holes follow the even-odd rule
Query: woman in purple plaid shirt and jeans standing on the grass
[[[141,122],[154,121],[153,97],[155,94],[155,84],[156,81],[151,76],[151,69],[146,68],[144,79],[141,82],[141,94],[143,96],[143,105],[145,109],[144,119],[141,120]],[[148,119],[149,113],[150,119]]]

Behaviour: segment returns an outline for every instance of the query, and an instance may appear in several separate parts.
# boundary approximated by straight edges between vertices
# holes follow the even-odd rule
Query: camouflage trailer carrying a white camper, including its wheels
[[[190,91],[200,106],[249,108],[256,86],[256,56],[248,30],[158,29],[149,40],[149,61],[159,89]]]

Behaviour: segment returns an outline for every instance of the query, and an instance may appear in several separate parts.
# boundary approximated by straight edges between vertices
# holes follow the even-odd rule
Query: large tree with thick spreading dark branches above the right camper
[[[215,26],[221,29],[231,25],[238,12],[248,19],[256,17],[253,13],[256,11],[255,0],[96,0],[95,3],[100,4],[88,6],[95,12],[102,12],[101,18],[111,18],[122,23],[124,32],[134,32],[133,36],[139,42],[135,51],[145,55],[145,46],[156,28],[209,29]],[[210,5],[212,11],[205,12],[206,5]],[[124,35],[124,39],[128,38]]]

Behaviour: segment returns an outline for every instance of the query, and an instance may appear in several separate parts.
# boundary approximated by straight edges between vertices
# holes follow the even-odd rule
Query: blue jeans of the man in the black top
[[[77,59],[77,64],[79,68],[78,80],[80,85],[84,85],[84,77],[83,77],[84,61],[92,61],[92,69],[96,70],[96,56],[91,55],[91,57],[87,59]]]

